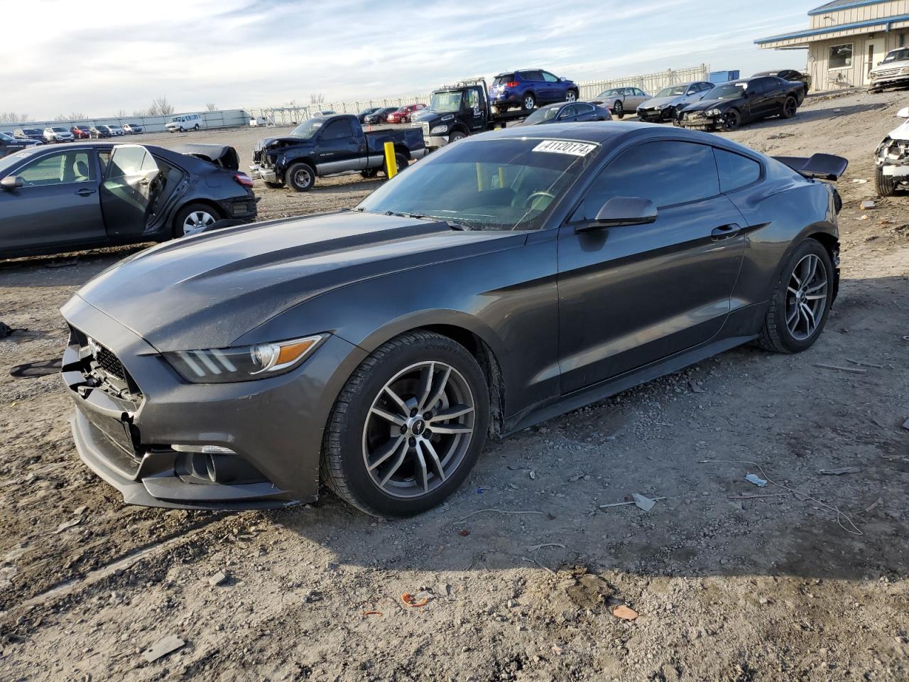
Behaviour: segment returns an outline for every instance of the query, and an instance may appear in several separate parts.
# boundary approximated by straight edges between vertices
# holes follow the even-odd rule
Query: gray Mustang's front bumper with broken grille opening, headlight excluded
[[[62,377],[79,456],[128,504],[247,509],[311,502],[345,362],[365,353],[337,336],[295,371],[255,381],[186,382],[145,339],[83,299]]]

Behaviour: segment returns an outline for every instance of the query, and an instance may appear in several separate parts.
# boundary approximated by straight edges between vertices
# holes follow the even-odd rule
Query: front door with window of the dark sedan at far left
[[[0,243],[5,251],[103,241],[94,153],[74,150],[41,155],[15,176],[23,186],[0,192]]]

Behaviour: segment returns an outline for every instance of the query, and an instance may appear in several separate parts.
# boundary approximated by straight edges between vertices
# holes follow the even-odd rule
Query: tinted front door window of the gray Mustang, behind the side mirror
[[[624,150],[606,165],[572,220],[593,220],[614,196],[638,196],[663,208],[719,193],[713,147],[670,140],[647,142]]]

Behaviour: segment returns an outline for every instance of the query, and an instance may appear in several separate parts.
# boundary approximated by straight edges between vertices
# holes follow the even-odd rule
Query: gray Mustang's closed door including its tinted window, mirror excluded
[[[656,222],[575,232],[614,196],[651,199]],[[560,228],[563,393],[714,337],[742,265],[743,224],[720,194],[710,145],[666,140],[616,155]]]

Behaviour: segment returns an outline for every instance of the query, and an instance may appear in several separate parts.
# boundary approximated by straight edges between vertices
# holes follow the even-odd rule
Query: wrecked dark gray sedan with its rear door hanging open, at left
[[[181,151],[183,153],[181,153]],[[234,147],[76,141],[0,159],[0,258],[163,241],[256,214]]]

